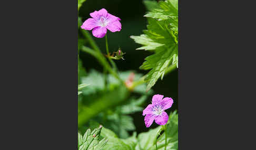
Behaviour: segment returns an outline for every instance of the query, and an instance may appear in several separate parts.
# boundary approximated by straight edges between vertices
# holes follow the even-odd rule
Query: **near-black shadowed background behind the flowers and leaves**
[[[130,38],[131,35],[139,36],[143,34],[143,30],[146,29],[147,19],[143,16],[146,14],[147,10],[143,4],[143,1],[87,0],[81,6],[78,16],[82,17],[82,22],[84,22],[87,18],[91,18],[90,13],[94,12],[95,10],[100,10],[101,8],[105,8],[110,14],[121,18],[122,29],[120,32],[111,33],[111,31],[107,30],[110,52],[116,51],[119,47],[123,52],[126,52],[124,55],[125,60],[114,60],[117,68],[120,71],[135,70],[136,72],[143,74],[149,72],[149,70],[140,70],[139,67],[144,62],[144,58],[152,53],[145,50],[135,50],[136,48],[141,47],[141,45],[136,44],[134,40]],[[92,31],[90,31],[90,34],[92,34]],[[93,38],[102,52],[106,53],[105,37]],[[102,72],[101,65],[91,55],[81,52],[80,58],[82,59],[83,66],[85,67],[86,71],[96,69]],[[164,76],[163,80],[158,80],[152,89],[154,94],[162,94],[164,97],[171,97],[174,100],[172,108],[166,110],[167,113],[178,110],[177,69]],[[151,98],[152,97],[149,97],[145,103],[151,103]],[[134,113],[132,117],[134,119],[137,133],[149,130],[149,128],[146,128],[144,125],[144,116],[142,116],[142,112]],[[157,125],[153,123],[151,127],[153,128],[156,126]]]

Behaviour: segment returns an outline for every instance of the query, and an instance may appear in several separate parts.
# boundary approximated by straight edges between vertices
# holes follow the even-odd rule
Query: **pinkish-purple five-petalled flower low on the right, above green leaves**
[[[165,125],[168,122],[169,116],[164,111],[171,108],[173,104],[172,98],[164,98],[163,95],[156,94],[152,98],[152,104],[147,105],[143,110],[143,115],[146,127],[150,127],[153,121],[159,125]]]

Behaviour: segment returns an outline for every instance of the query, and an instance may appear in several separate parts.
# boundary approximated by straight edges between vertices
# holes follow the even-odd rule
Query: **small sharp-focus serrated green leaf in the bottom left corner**
[[[99,141],[102,127],[95,128],[92,132],[90,128],[84,136],[78,133],[78,150],[101,150],[107,143],[106,138]]]

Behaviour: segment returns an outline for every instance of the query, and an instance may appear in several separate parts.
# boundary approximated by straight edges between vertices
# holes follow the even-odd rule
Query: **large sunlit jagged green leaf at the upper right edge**
[[[147,30],[140,36],[131,36],[143,45],[137,49],[153,50],[155,53],[145,58],[140,67],[150,70],[145,76],[146,91],[164,76],[171,65],[178,67],[178,0],[161,1],[157,7],[145,15],[149,22]],[[166,71],[170,72],[170,70]]]

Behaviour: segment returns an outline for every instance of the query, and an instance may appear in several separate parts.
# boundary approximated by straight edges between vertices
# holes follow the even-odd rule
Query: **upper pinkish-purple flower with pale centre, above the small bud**
[[[116,31],[120,31],[122,28],[122,25],[119,22],[121,19],[107,13],[107,10],[104,8],[99,11],[95,10],[93,13],[90,13],[90,16],[92,18],[85,20],[81,28],[85,30],[93,29],[93,36],[97,38],[103,38],[107,29],[114,33]]]

